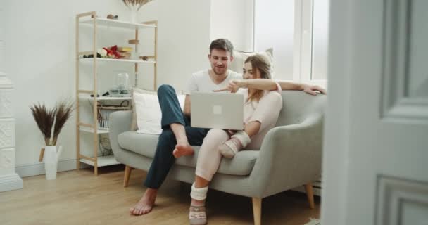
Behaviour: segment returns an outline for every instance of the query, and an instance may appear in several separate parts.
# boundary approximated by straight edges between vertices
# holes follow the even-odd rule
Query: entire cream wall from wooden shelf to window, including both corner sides
[[[253,0],[157,0],[146,6],[139,20],[158,20],[158,84],[184,89],[191,73],[208,68],[213,39],[227,38],[235,49],[252,51]],[[152,33],[142,36],[150,42]],[[141,78],[139,86],[151,89],[151,75]]]

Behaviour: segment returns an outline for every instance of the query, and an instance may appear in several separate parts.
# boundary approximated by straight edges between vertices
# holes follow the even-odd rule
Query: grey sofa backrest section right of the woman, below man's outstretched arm
[[[304,91],[282,91],[282,109],[275,126],[298,124],[311,115],[325,113],[327,96],[312,96]]]

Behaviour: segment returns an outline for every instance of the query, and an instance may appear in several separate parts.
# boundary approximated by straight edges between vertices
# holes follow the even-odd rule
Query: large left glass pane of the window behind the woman
[[[293,79],[295,0],[256,0],[255,50],[273,47],[275,79]]]

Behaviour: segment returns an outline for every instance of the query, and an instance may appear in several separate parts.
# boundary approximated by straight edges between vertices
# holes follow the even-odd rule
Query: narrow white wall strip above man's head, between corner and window
[[[253,51],[253,0],[211,1],[210,40],[226,38],[234,49]]]

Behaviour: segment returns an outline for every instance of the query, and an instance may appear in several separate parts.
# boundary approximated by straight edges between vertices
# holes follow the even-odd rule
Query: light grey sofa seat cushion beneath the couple
[[[137,131],[126,131],[118,136],[118,143],[121,148],[134,153],[154,158],[158,135],[138,134]],[[198,160],[199,146],[193,146],[195,154],[177,158],[175,164],[186,167],[196,167]],[[223,158],[218,173],[236,176],[246,176],[251,173],[254,163],[258,158],[258,150],[242,150],[234,158]]]

